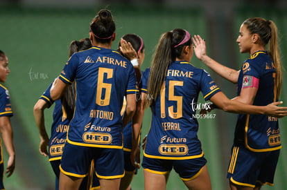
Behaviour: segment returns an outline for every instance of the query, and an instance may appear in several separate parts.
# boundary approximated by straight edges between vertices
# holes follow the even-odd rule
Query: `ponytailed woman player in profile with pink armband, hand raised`
[[[205,41],[200,36],[194,38],[198,58],[218,75],[237,83],[238,92],[234,100],[261,106],[279,99],[282,71],[277,26],[273,21],[254,17],[241,24],[236,42],[240,53],[250,53],[250,58],[238,71],[208,57]],[[260,189],[263,184],[272,185],[281,149],[278,119],[267,115],[240,114],[234,134],[227,173],[230,188]]]

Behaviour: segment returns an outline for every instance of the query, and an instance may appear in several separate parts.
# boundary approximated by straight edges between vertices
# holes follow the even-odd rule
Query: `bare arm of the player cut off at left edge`
[[[15,149],[13,145],[13,131],[10,117],[0,117],[0,132],[9,155],[6,173],[8,173],[7,177],[10,177],[15,169]]]

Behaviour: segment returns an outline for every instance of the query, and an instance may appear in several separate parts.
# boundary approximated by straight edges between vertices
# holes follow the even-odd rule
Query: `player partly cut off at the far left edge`
[[[0,50],[0,82],[6,82],[7,76],[10,70],[8,68],[8,58],[5,53]],[[15,169],[15,149],[13,145],[13,131],[10,122],[10,117],[13,115],[13,111],[10,104],[10,96],[6,87],[0,84],[0,132],[3,142],[6,146],[9,158],[7,162],[6,172],[7,177],[12,175]],[[3,174],[4,174],[4,162],[2,155],[2,142],[0,139],[0,189],[5,189],[3,184]]]

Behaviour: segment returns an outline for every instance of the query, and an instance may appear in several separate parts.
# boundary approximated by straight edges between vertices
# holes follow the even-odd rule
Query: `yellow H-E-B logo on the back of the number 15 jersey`
[[[186,144],[161,144],[159,145],[159,153],[162,155],[186,155],[189,148]]]

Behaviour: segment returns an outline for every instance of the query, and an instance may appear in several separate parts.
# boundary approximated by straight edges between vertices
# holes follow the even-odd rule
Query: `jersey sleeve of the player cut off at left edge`
[[[12,116],[13,111],[10,104],[10,95],[7,89],[1,89],[0,93],[0,117]]]

